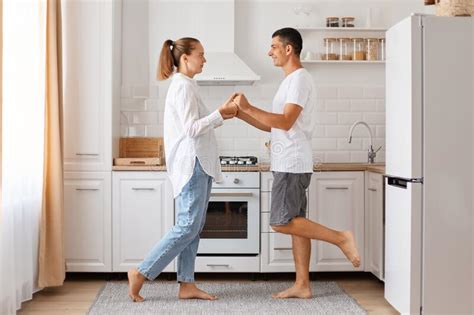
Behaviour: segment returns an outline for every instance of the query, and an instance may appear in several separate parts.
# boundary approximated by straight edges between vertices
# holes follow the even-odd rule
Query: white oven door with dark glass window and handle
[[[199,254],[258,254],[260,190],[213,189]]]

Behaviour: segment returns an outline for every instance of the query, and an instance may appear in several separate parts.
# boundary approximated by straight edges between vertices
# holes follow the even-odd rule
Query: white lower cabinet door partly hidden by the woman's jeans
[[[174,222],[171,182],[166,172],[112,172],[113,271],[127,271]],[[175,270],[171,262],[163,271]]]

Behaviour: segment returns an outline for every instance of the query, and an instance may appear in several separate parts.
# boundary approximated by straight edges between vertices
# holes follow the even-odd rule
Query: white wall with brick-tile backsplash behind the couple
[[[134,3],[134,10],[127,9],[130,7],[130,5],[127,6],[127,2],[131,1]],[[196,3],[205,2],[206,5],[209,5],[211,2],[214,6],[221,5],[223,10],[228,12],[227,7],[233,1],[191,1],[190,3],[190,1],[151,0],[148,2],[141,0],[137,4],[135,0],[124,0],[122,135],[126,135],[127,119],[131,126],[129,128],[130,135],[162,135],[164,98],[168,83],[158,83],[154,77],[155,60],[158,58],[159,49],[164,39],[175,39],[173,36],[176,38],[181,36],[204,37],[203,43],[209,43],[208,47],[205,45],[205,48],[210,47],[211,50],[216,50],[215,39],[228,37],[223,45],[225,47],[231,45],[229,38],[232,38],[232,34],[225,36],[232,29],[231,26],[224,23],[223,28],[213,30],[215,24],[209,23],[212,16],[208,15],[198,21],[191,20],[188,10],[192,9],[191,11],[198,12],[199,5],[196,6]],[[309,16],[296,15],[294,8],[297,5],[310,6]],[[137,6],[140,6],[140,9]],[[178,6],[178,10],[175,9],[176,6]],[[262,80],[252,87],[202,87],[201,93],[205,103],[212,110],[217,108],[230,93],[241,91],[255,105],[270,110],[273,95],[283,79],[281,69],[274,67],[267,56],[271,34],[276,29],[285,26],[322,26],[325,16],[328,15],[354,16],[356,25],[365,26],[368,8],[371,12],[372,27],[387,28],[409,15],[410,12],[426,11],[421,0],[333,0],[304,3],[289,0],[235,1],[235,51],[262,77]],[[182,16],[186,18],[181,21],[188,20],[189,23],[178,23],[179,14],[172,15],[170,12],[173,11],[183,13]],[[144,12],[148,12],[148,15]],[[216,15],[217,12],[213,11],[211,15]],[[132,23],[133,30],[130,29]],[[207,26],[201,25],[198,29],[196,25],[200,23]],[[146,29],[147,24],[149,31]],[[198,33],[201,32],[201,36],[186,32],[186,30],[193,29]],[[207,36],[204,36],[202,30],[205,30]],[[138,39],[130,40],[130,37],[138,36],[137,32],[141,33],[139,34],[140,41]],[[143,41],[145,36],[142,34],[148,36],[148,42]],[[302,35],[304,50],[320,52],[322,38],[330,34],[303,32]],[[374,36],[374,34],[362,35]],[[383,36],[383,33],[379,35]],[[350,34],[349,36],[354,37]],[[138,61],[137,58],[141,61]],[[141,63],[139,68],[135,67],[134,64],[137,62],[148,63],[147,68],[144,69]],[[366,150],[369,143],[367,131],[362,128],[356,129],[352,144],[347,143],[347,134],[350,125],[354,121],[362,119],[372,126],[375,146],[384,144],[384,66],[332,64],[307,65],[306,68],[313,75],[317,86],[314,99],[316,125],[312,140],[315,158],[330,162],[366,161]],[[148,82],[146,79],[143,80],[147,77],[149,78]],[[257,155],[264,159],[267,157],[264,142],[268,141],[268,134],[247,126],[239,120],[226,121],[223,127],[216,130],[216,135],[222,155]],[[377,160],[384,160],[383,151],[380,152]]]

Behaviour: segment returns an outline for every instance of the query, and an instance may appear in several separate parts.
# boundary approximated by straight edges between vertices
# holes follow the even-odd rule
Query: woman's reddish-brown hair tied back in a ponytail
[[[160,60],[156,77],[158,80],[168,79],[174,72],[174,68],[179,67],[181,55],[190,55],[199,40],[191,37],[184,37],[177,41],[165,40],[161,48]]]

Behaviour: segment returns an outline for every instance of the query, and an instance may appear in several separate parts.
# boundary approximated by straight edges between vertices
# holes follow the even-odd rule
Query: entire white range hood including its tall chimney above
[[[159,30],[149,34],[150,56],[158,56],[168,38],[195,37],[204,46],[207,60],[202,73],[194,77],[199,85],[251,85],[260,80],[235,53],[235,0],[146,2],[149,29]]]

